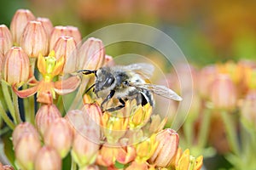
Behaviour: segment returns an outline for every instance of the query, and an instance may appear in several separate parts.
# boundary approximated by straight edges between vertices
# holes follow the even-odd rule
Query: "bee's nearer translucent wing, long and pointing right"
[[[153,94],[160,95],[162,97],[165,97],[167,99],[174,99],[177,101],[183,100],[179,95],[177,95],[174,91],[172,91],[170,88],[166,88],[165,86],[161,85],[155,85],[155,84],[140,84],[140,83],[131,83],[132,87],[135,88],[144,88],[152,92]]]

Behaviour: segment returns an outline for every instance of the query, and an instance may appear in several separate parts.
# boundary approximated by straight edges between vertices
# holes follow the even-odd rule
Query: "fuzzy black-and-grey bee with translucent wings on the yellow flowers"
[[[165,86],[155,85],[146,82],[152,75],[154,66],[146,63],[137,63],[132,65],[103,66],[97,71],[80,70],[84,75],[95,74],[95,83],[88,88],[94,88],[97,97],[103,99],[101,108],[110,99],[119,99],[120,105],[109,108],[105,111],[118,111],[125,107],[126,100],[137,100],[137,105],[154,106],[154,94],[167,99],[181,101],[182,98],[172,89]]]

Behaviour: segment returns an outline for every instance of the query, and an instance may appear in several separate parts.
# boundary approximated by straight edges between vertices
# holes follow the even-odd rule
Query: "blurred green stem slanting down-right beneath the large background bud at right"
[[[224,122],[224,127],[226,129],[227,139],[230,144],[230,149],[237,156],[239,156],[239,144],[237,141],[235,124],[234,122],[232,122],[233,117],[230,116],[230,114],[225,110],[221,111],[221,116]]]

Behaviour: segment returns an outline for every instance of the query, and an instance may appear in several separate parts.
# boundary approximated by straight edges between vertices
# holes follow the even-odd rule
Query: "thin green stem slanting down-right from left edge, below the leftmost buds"
[[[3,96],[5,99],[6,105],[9,109],[10,115],[13,117],[15,124],[17,124],[18,122],[15,117],[15,107],[13,105],[13,101],[9,94],[9,88],[8,88],[8,85],[6,84],[6,82],[2,82],[2,89],[3,89]]]

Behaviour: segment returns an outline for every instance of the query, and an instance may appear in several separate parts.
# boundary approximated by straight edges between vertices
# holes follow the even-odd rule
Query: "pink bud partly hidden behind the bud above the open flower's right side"
[[[67,27],[66,26],[55,26],[51,31],[50,39],[49,39],[49,50],[52,50],[55,46],[55,42],[61,36],[67,36]]]

